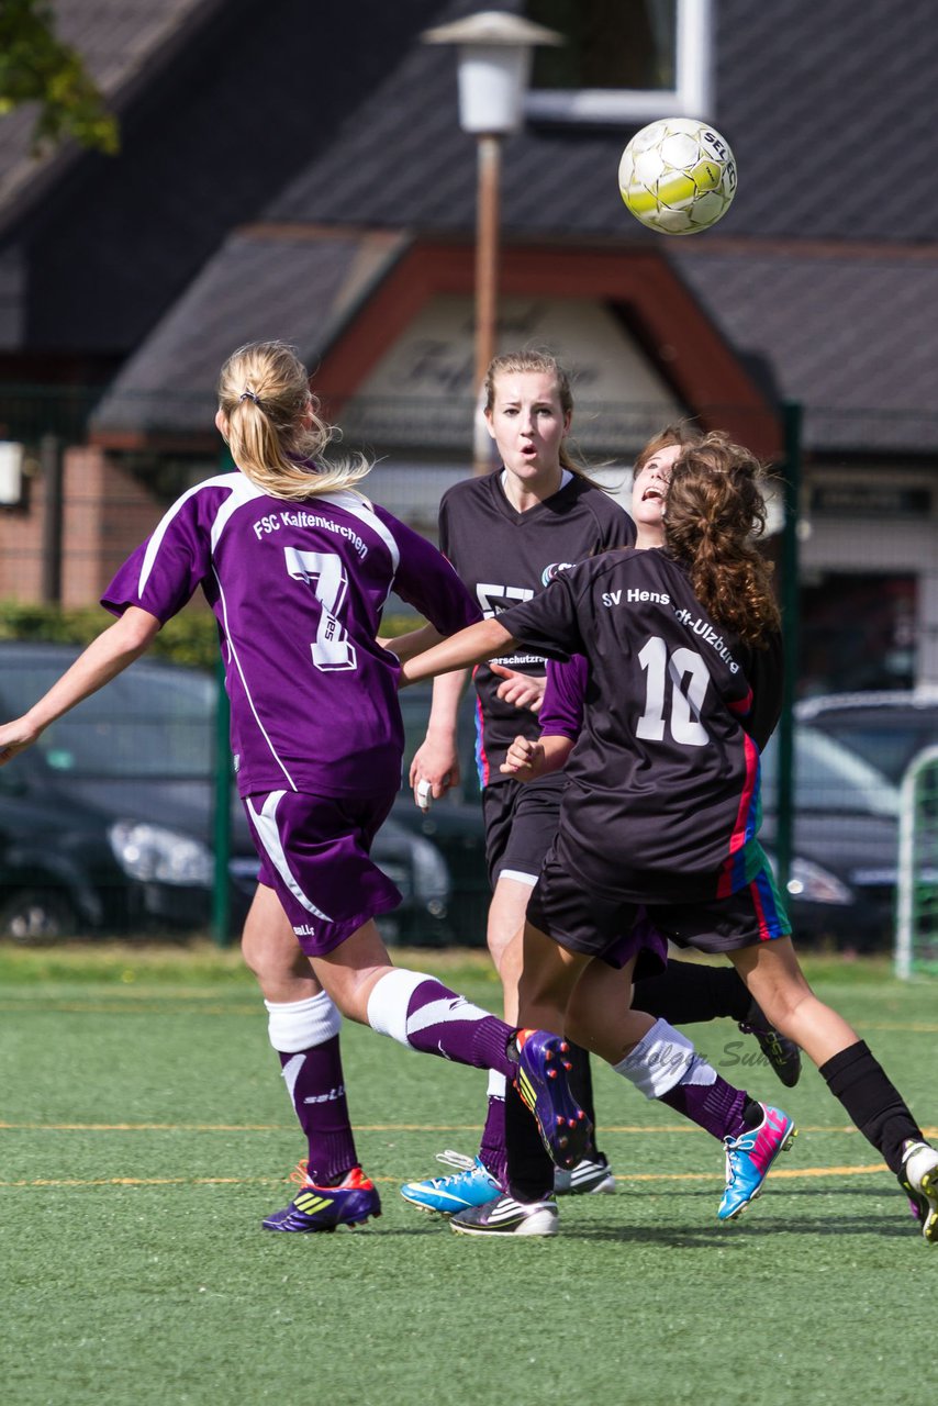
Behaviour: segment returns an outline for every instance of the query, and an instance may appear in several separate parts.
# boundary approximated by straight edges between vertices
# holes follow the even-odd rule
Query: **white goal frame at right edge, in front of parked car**
[[[908,763],[901,783],[896,976],[938,974],[938,747]]]

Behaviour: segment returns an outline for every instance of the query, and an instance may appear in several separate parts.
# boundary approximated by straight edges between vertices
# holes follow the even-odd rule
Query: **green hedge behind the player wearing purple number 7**
[[[90,644],[104,630],[110,616],[101,606],[65,610],[60,606],[24,605],[21,600],[0,600],[0,640],[53,640],[63,644]],[[385,634],[404,634],[415,627],[411,617],[388,616],[381,628]],[[211,610],[191,606],[163,626],[150,654],[212,669],[218,662],[218,630]]]

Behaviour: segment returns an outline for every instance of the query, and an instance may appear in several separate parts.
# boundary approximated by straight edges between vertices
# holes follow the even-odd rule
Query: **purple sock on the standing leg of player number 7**
[[[339,1036],[312,1049],[277,1050],[287,1092],[309,1144],[309,1180],[328,1187],[359,1166],[349,1122]]]

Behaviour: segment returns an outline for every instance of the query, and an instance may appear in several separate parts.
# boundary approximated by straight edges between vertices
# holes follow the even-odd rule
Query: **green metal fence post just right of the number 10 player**
[[[795,679],[799,668],[799,513],[802,498],[802,406],[788,401],[785,423],[785,526],[782,529],[782,714],[779,717],[779,770],[775,799],[778,832],[775,860],[782,896],[792,876],[792,828],[795,820]]]

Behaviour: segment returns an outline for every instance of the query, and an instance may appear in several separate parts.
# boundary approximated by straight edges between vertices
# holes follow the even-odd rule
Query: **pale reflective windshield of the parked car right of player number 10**
[[[778,735],[762,754],[762,803],[773,810]],[[899,789],[876,766],[817,728],[795,730],[795,806],[799,811],[899,815]]]

